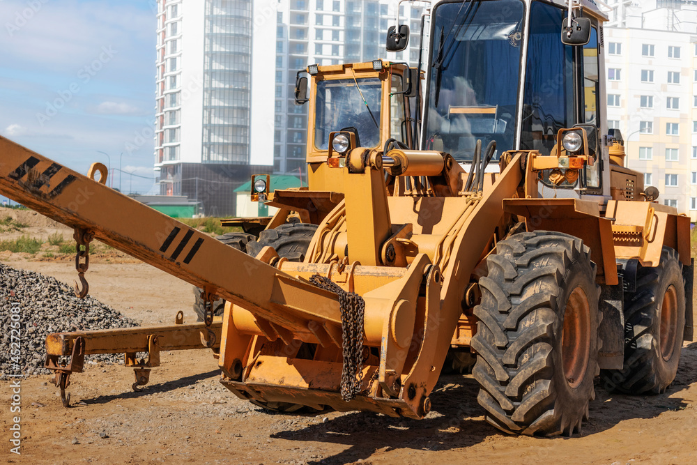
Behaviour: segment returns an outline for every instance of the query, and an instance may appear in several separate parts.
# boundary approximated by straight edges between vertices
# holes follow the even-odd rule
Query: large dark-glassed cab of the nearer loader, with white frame
[[[606,18],[595,4],[581,4],[574,17],[590,19],[586,45],[562,43],[563,1],[435,3],[422,148],[450,153],[463,165],[477,140],[496,141],[493,161],[510,150],[553,155],[560,130],[583,125],[592,162],[576,177],[546,170],[540,184],[558,197],[602,195],[608,151],[599,38]]]

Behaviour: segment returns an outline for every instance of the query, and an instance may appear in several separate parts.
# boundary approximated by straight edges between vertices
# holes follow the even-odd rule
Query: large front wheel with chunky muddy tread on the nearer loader
[[[477,397],[511,434],[571,435],[595,399],[599,287],[581,239],[547,231],[500,241],[475,307]]]

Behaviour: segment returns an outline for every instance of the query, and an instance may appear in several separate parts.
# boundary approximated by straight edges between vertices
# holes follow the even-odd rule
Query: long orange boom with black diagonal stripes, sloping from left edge
[[[106,179],[100,179],[105,182]],[[309,338],[341,324],[335,294],[0,137],[0,194]],[[233,264],[233,266],[231,266]],[[254,286],[248,284],[254,282]],[[303,310],[305,309],[305,310]]]

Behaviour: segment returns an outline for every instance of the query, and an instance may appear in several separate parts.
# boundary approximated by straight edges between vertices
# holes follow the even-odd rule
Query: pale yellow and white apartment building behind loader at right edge
[[[697,5],[610,2],[604,30],[608,125],[625,137],[627,166],[662,204],[697,221]]]

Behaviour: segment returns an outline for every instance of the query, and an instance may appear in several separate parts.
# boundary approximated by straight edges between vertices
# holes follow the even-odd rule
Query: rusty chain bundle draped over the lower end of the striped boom
[[[348,402],[360,391],[363,380],[363,317],[365,300],[355,292],[346,292],[328,277],[314,275],[310,282],[320,289],[339,296],[344,340],[342,368],[342,398]]]

